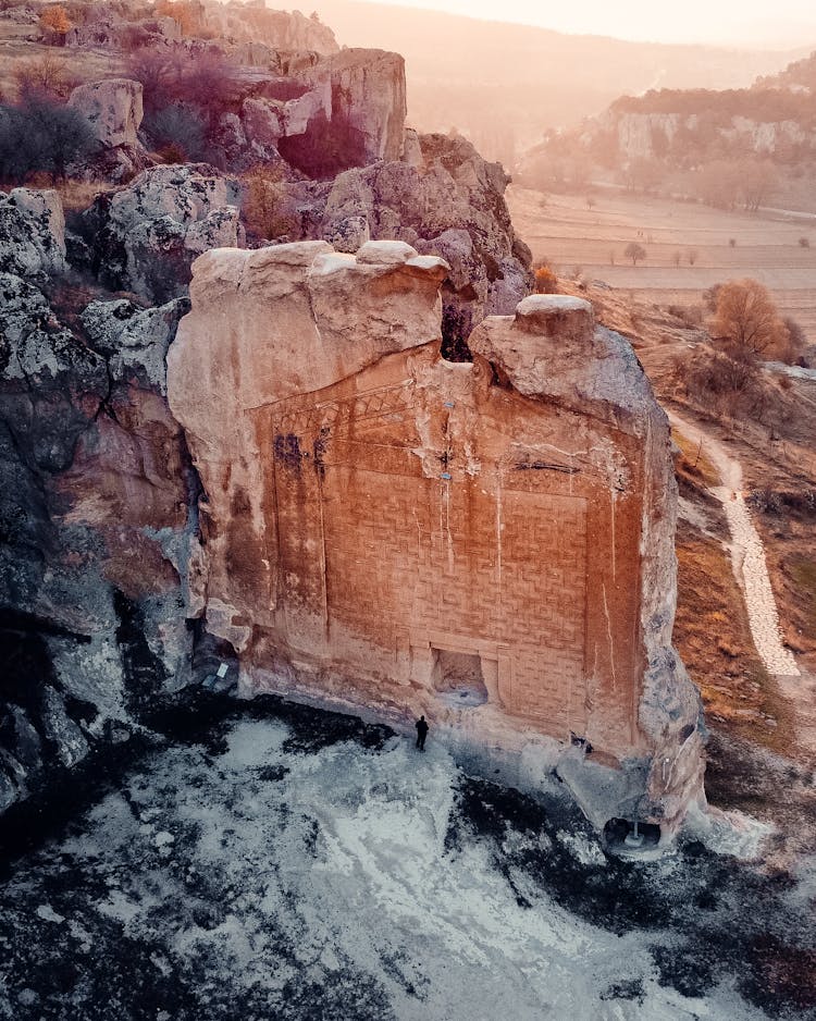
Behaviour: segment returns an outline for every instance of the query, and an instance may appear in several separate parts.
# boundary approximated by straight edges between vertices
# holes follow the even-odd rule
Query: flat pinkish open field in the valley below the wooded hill
[[[508,189],[512,222],[533,258],[549,259],[561,275],[578,267],[589,279],[662,305],[698,304],[706,287],[753,276],[816,342],[816,216],[725,212],[611,190],[593,199],[590,209],[584,196],[551,195],[542,208],[539,192]],[[638,266],[623,256],[630,242],[647,253]],[[693,266],[690,254],[696,254]]]

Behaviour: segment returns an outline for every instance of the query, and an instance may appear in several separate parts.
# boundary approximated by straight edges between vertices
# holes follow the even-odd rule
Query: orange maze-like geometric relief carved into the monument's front
[[[269,411],[273,434],[296,435],[309,450],[325,426],[343,436],[346,425],[387,418],[413,399],[408,382]],[[408,442],[407,428],[396,425],[385,446]],[[543,472],[523,472],[523,491],[500,495],[481,477],[429,479],[400,470],[405,459],[390,459],[382,443],[369,450],[367,435],[337,439],[334,455],[330,441],[314,488],[279,478],[279,515],[296,529],[300,516],[304,540],[307,518],[318,528],[320,553],[306,540],[300,568],[287,569],[325,571],[330,633],[341,625],[394,650],[406,627],[495,642],[511,660],[507,709],[564,730],[583,703],[586,500],[543,492]]]

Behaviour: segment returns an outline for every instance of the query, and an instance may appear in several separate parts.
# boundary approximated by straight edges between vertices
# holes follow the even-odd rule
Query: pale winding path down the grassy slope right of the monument
[[[700,426],[669,411],[669,420],[693,443],[702,443],[706,457],[719,472],[721,485],[712,488],[726,513],[731,532],[731,564],[745,596],[751,636],[769,674],[799,677],[790,650],[782,644],[779,614],[770,587],[765,549],[742,495],[742,468],[714,436]]]

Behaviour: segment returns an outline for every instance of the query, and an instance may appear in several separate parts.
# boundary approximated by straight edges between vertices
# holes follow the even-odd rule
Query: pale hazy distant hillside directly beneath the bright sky
[[[621,93],[747,86],[800,56],[572,36],[359,0],[316,0],[313,7],[341,44],[405,57],[416,127],[455,126],[508,168],[547,127],[574,126]]]

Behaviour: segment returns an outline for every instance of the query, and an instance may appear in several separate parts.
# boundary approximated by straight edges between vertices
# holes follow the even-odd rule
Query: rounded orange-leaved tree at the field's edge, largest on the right
[[[713,332],[743,358],[780,358],[790,349],[788,328],[756,280],[729,280],[719,287]]]

